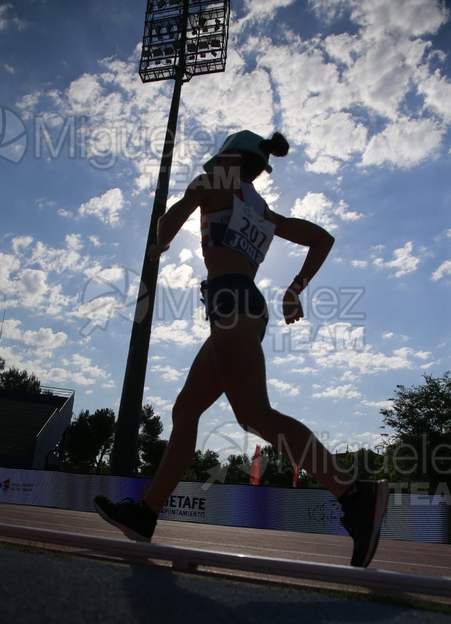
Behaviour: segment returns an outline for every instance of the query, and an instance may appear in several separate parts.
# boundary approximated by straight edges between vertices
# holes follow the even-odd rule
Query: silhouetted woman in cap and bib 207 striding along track
[[[264,139],[242,130],[231,135],[204,165],[205,173],[187,187],[158,222],[158,237],[148,250],[151,260],[169,249],[187,218],[201,211],[201,245],[207,279],[201,284],[210,336],[198,352],[173,406],[173,429],[155,479],[143,501],[117,503],[105,496],[96,510],[130,539],[151,540],[158,513],[194,456],[201,415],[224,393],[239,425],[276,448],[284,441],[287,456],[336,496],[343,526],[354,540],[352,566],[368,566],[380,536],[389,499],[386,480],[343,483],[343,472],[312,431],[296,418],[271,407],[261,341],[268,311],[255,275],[273,236],[308,248],[282,301],[287,324],[303,318],[299,295],[323,265],[334,243],[325,229],[269,209],[253,182],[271,173],[269,157],[287,155],[289,145],[275,132]],[[283,279],[287,279],[284,276]],[[287,281],[285,281],[285,284]]]

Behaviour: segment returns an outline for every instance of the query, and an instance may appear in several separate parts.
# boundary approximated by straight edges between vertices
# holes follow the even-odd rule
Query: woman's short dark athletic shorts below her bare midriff
[[[264,320],[266,329],[269,319],[268,308],[251,277],[241,273],[219,275],[201,282],[201,293],[210,324],[236,314],[246,314],[248,318]],[[262,340],[264,332],[265,330],[262,333]]]

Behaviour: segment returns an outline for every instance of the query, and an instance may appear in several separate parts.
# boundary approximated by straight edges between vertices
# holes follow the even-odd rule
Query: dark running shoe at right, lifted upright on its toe
[[[389,482],[355,481],[340,499],[341,523],[354,540],[351,565],[366,568],[379,542],[382,521],[389,503]]]

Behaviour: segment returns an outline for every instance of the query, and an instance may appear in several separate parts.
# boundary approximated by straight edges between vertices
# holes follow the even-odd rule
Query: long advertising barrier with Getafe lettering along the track
[[[151,480],[0,468],[0,503],[94,512],[98,494],[136,501]],[[160,518],[222,526],[347,535],[341,507],[321,489],[221,485],[182,481]],[[381,537],[451,544],[451,498],[426,494],[390,495]]]

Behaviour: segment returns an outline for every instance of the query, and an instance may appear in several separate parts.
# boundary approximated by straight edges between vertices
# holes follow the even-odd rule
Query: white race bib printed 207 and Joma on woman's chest
[[[235,197],[223,245],[241,252],[255,266],[259,266],[269,250],[274,232],[274,223]]]

